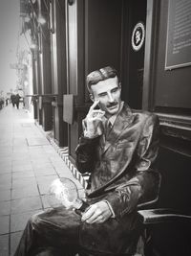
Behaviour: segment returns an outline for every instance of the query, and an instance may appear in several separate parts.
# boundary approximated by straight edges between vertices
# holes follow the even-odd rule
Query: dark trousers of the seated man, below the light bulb
[[[138,244],[138,220],[133,213],[127,217],[120,223],[110,218],[100,224],[88,224],[73,210],[63,207],[35,214],[28,221],[14,256],[74,256],[79,252],[133,255]]]

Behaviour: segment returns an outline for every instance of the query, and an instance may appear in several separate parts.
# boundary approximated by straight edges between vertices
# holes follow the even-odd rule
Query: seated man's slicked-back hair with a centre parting
[[[115,78],[117,76],[117,70],[114,67],[107,66],[91,72],[86,79],[86,85],[89,92],[92,92],[91,86],[99,81]]]

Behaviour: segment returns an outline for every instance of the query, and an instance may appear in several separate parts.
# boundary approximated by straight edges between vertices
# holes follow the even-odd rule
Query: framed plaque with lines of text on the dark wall
[[[169,0],[165,69],[191,65],[191,1]]]

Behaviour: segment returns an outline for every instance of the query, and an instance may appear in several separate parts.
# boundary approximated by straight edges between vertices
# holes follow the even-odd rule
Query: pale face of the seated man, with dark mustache
[[[117,114],[120,107],[120,87],[117,77],[99,81],[92,85],[93,99],[99,101],[99,107],[110,117]]]

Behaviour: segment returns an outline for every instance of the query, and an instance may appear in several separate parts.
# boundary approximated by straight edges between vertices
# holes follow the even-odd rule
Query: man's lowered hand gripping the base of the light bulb
[[[81,221],[87,223],[102,223],[112,216],[112,212],[106,201],[98,201],[92,204],[82,215]]]

